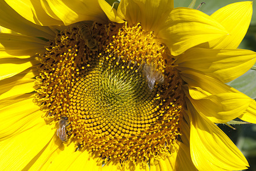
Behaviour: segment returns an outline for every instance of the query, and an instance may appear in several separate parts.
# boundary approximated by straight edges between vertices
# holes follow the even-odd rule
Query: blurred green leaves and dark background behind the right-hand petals
[[[188,7],[190,2],[191,0],[174,0],[174,6]],[[199,10],[203,11],[203,13],[211,15],[214,13],[214,11],[217,11],[223,6],[241,1],[197,0],[194,9],[196,9],[197,6],[202,2],[205,2],[205,4],[202,4]],[[238,48],[256,51],[256,0],[253,1],[253,18],[251,19],[249,30]],[[255,64],[254,66],[256,67]],[[256,100],[256,70],[249,70],[246,72],[246,74],[227,84]],[[233,130],[223,124],[218,125],[218,127],[230,137],[230,139],[245,155],[250,164],[250,168],[248,170],[256,171],[256,125],[243,124],[232,126],[237,130]]]

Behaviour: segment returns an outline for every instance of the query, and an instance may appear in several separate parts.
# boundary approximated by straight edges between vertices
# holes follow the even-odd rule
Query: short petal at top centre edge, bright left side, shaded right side
[[[122,0],[117,9],[118,16],[127,21],[129,25],[141,23],[141,10],[134,1]]]

